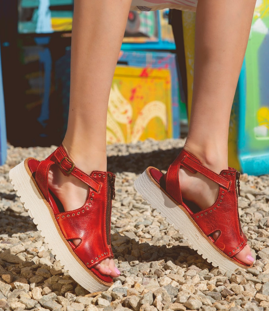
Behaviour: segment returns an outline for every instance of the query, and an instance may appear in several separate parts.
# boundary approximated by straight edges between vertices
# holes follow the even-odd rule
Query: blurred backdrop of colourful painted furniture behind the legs
[[[67,127],[73,0],[0,0],[0,164],[58,145]],[[186,137],[195,13],[131,11],[111,88],[107,143]],[[230,120],[229,165],[269,173],[269,0],[258,0]],[[2,65],[2,66],[1,66]]]

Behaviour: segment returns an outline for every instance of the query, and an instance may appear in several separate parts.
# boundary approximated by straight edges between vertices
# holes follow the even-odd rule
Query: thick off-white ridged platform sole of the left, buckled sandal
[[[65,270],[68,270],[69,275],[91,293],[108,289],[110,285],[105,286],[98,282],[70,252],[59,235],[46,203],[25,169],[24,162],[10,170],[9,178],[29,216],[33,218],[37,229],[41,231],[45,242],[49,245],[52,253],[56,255],[56,259],[61,261]]]

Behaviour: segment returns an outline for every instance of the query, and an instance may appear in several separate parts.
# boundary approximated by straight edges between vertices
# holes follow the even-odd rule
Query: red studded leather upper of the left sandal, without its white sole
[[[63,174],[72,174],[89,186],[88,197],[82,207],[73,211],[63,211],[61,202],[48,188],[48,171],[53,164],[57,164]],[[101,275],[93,266],[105,258],[113,258],[110,223],[115,175],[101,171],[85,174],[74,166],[62,146],[41,162],[29,158],[28,166],[51,208],[61,233],[74,253],[103,281],[111,282],[110,276]],[[81,239],[78,246],[72,243],[73,239]]]

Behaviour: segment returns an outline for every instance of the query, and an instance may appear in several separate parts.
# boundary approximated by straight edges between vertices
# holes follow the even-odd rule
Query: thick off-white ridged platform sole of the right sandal
[[[214,267],[219,267],[222,273],[228,270],[235,271],[240,266],[222,256],[191,222],[186,213],[178,207],[148,176],[147,171],[134,182],[137,192],[146,200],[152,208],[173,225],[174,228],[188,240],[190,247],[197,251]]]

